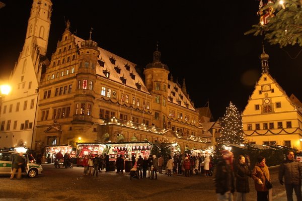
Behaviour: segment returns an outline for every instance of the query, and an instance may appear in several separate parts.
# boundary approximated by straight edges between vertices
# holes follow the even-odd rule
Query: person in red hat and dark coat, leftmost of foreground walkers
[[[233,200],[233,193],[235,192],[233,159],[234,155],[231,151],[221,151],[221,159],[213,174],[217,200]]]

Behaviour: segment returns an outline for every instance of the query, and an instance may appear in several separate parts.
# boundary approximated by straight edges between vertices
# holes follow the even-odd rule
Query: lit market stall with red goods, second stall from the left
[[[77,166],[83,166],[85,155],[100,155],[103,154],[106,145],[102,143],[77,143]]]

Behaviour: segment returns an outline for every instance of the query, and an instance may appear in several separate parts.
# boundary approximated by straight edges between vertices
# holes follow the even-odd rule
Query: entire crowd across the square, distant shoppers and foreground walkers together
[[[63,166],[66,167],[65,161],[68,161],[68,158],[70,159],[68,153],[63,156],[61,152],[58,152],[55,158],[58,163],[55,163],[55,167],[60,168],[60,161],[64,161]],[[109,155],[106,153],[94,156],[85,155],[83,174],[98,176],[102,170],[112,171],[109,167],[109,161]],[[251,167],[248,155],[239,155],[234,161],[234,155],[229,150],[221,151],[220,160],[215,166],[212,156],[208,153],[199,153],[194,156],[178,154],[171,157],[168,155],[166,158],[163,155],[149,155],[149,157],[139,155],[136,158],[134,155],[120,154],[115,161],[116,173],[127,172],[125,170],[126,161],[132,162],[128,172],[136,172],[137,178],[158,179],[158,173],[167,174],[167,176],[184,175],[185,177],[190,177],[193,174],[213,176],[217,200],[221,201],[233,201],[235,192],[237,201],[245,201],[247,193],[250,192],[249,179],[253,179],[257,191],[257,201],[272,200],[271,177],[266,159],[263,156],[258,156],[255,166]],[[301,173],[302,163],[294,159],[293,151],[288,151],[286,159],[279,166],[279,181],[280,184],[285,185],[286,196],[289,201],[293,200],[293,190],[297,201],[302,201]]]

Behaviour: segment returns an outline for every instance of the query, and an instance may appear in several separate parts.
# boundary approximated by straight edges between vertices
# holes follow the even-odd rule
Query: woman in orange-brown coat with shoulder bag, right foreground
[[[269,189],[272,186],[266,185],[265,181],[268,180],[268,182],[271,182],[269,170],[263,156],[258,156],[257,161],[258,163],[256,163],[252,171],[252,178],[255,181],[255,189],[257,191],[257,201],[268,201]]]

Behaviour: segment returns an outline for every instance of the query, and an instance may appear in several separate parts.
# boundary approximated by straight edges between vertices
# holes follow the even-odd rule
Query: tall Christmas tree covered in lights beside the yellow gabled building
[[[244,142],[241,115],[232,102],[226,108],[221,124],[220,138],[222,143],[240,145]]]

